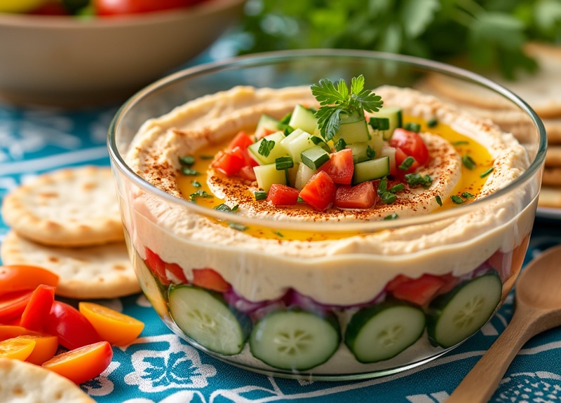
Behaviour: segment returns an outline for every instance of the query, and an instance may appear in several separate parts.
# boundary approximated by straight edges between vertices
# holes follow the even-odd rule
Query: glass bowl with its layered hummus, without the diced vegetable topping
[[[404,123],[441,134],[463,188],[452,180],[438,188],[452,171],[434,146],[431,161],[445,169],[431,171],[420,193],[377,201],[372,214],[275,207],[253,198],[255,182],[205,174],[212,156],[241,130],[255,130],[262,113],[278,118],[301,94],[312,102],[309,86],[320,79],[351,83],[360,74],[388,106],[403,102]],[[438,94],[430,85],[438,77],[470,101],[496,99],[496,111],[474,115],[461,97]],[[501,111],[516,117],[506,122],[512,134],[492,122]],[[470,142],[484,151],[463,148]],[[130,98],[109,129],[130,257],[165,324],[231,365],[316,380],[400,372],[478,332],[520,272],[545,151],[541,121],[505,88],[444,64],[347,50],[266,53],[180,71]],[[186,155],[196,163],[181,162]],[[238,209],[213,208],[225,196],[208,185],[221,181],[229,195],[244,195]],[[402,194],[414,197],[400,201]]]

